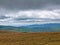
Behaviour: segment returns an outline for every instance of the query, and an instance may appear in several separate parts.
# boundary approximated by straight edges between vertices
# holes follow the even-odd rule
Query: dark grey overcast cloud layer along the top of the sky
[[[8,9],[41,9],[57,5],[60,5],[60,0],[0,0],[0,7]]]

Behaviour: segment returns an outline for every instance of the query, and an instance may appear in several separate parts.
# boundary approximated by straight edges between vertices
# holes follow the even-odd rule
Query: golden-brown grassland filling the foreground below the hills
[[[60,32],[0,31],[0,45],[60,45]]]

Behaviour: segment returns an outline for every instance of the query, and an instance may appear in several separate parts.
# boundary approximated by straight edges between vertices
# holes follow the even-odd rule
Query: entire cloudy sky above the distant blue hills
[[[0,0],[0,25],[60,23],[60,0]]]

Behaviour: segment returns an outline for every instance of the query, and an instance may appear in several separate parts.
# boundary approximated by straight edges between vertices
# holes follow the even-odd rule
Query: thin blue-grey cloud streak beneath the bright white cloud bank
[[[48,19],[48,18],[15,18],[14,20],[16,20],[16,21],[26,21],[27,20],[27,22],[60,21],[60,19]]]

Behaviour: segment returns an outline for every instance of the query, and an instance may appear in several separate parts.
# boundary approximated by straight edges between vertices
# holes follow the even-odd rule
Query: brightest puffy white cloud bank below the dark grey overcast
[[[60,19],[60,10],[25,10],[5,14],[11,18],[49,18]]]

